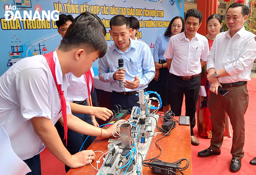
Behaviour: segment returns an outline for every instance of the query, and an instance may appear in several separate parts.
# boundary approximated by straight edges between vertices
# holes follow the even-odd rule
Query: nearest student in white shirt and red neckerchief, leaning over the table
[[[99,27],[79,21],[69,26],[56,52],[24,58],[0,77],[0,127],[7,132],[14,153],[26,163],[30,162],[31,174],[41,174],[39,153],[45,146],[71,168],[89,163],[92,150],[71,155],[64,147],[54,127],[57,120],[64,125],[65,134],[68,128],[91,136],[112,135],[116,124],[100,129],[81,121],[71,114],[66,96],[65,74],[71,72],[81,77],[106,51],[107,43]],[[76,110],[80,106],[77,105]],[[88,113],[100,117],[109,115],[105,108],[90,106]],[[91,160],[94,159],[92,154]]]

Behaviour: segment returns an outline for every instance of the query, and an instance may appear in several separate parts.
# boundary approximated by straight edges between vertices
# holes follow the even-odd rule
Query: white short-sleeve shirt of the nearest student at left
[[[66,90],[57,53],[54,52],[56,79]],[[32,158],[44,148],[30,119],[45,117],[54,125],[61,117],[61,103],[52,73],[43,55],[23,58],[0,77],[0,127],[6,130],[12,149],[22,160]],[[71,113],[66,98],[67,114]]]

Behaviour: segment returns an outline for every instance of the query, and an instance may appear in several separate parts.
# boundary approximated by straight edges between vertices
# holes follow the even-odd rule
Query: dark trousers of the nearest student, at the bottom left
[[[41,160],[39,154],[23,161],[28,165],[28,167],[32,171],[30,173],[27,173],[26,175],[41,175]]]

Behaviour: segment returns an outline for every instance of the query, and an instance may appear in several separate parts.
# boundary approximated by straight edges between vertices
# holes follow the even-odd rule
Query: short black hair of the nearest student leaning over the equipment
[[[75,48],[83,48],[89,54],[98,51],[101,58],[107,52],[107,42],[98,26],[92,21],[81,19],[69,26],[59,46],[64,52]]]

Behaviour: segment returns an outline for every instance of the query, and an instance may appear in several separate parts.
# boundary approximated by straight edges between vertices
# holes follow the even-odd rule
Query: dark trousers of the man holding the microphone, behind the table
[[[137,95],[128,96],[112,92],[110,98],[110,108],[114,110],[114,105],[121,105],[122,109],[129,110],[129,112],[131,112],[133,106],[140,106],[137,101],[139,101]]]

